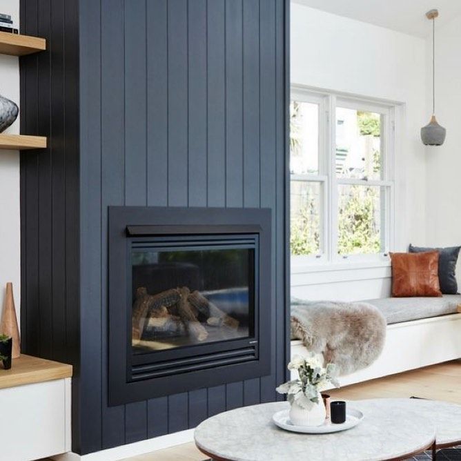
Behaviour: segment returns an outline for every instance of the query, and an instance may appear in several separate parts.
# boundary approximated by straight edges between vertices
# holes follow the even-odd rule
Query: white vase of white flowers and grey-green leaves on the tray
[[[325,404],[320,393],[328,384],[339,387],[336,380],[337,366],[327,364],[319,355],[296,355],[288,364],[288,370],[297,371],[298,379],[277,387],[277,392],[288,395],[290,420],[295,426],[320,426],[326,417]]]

